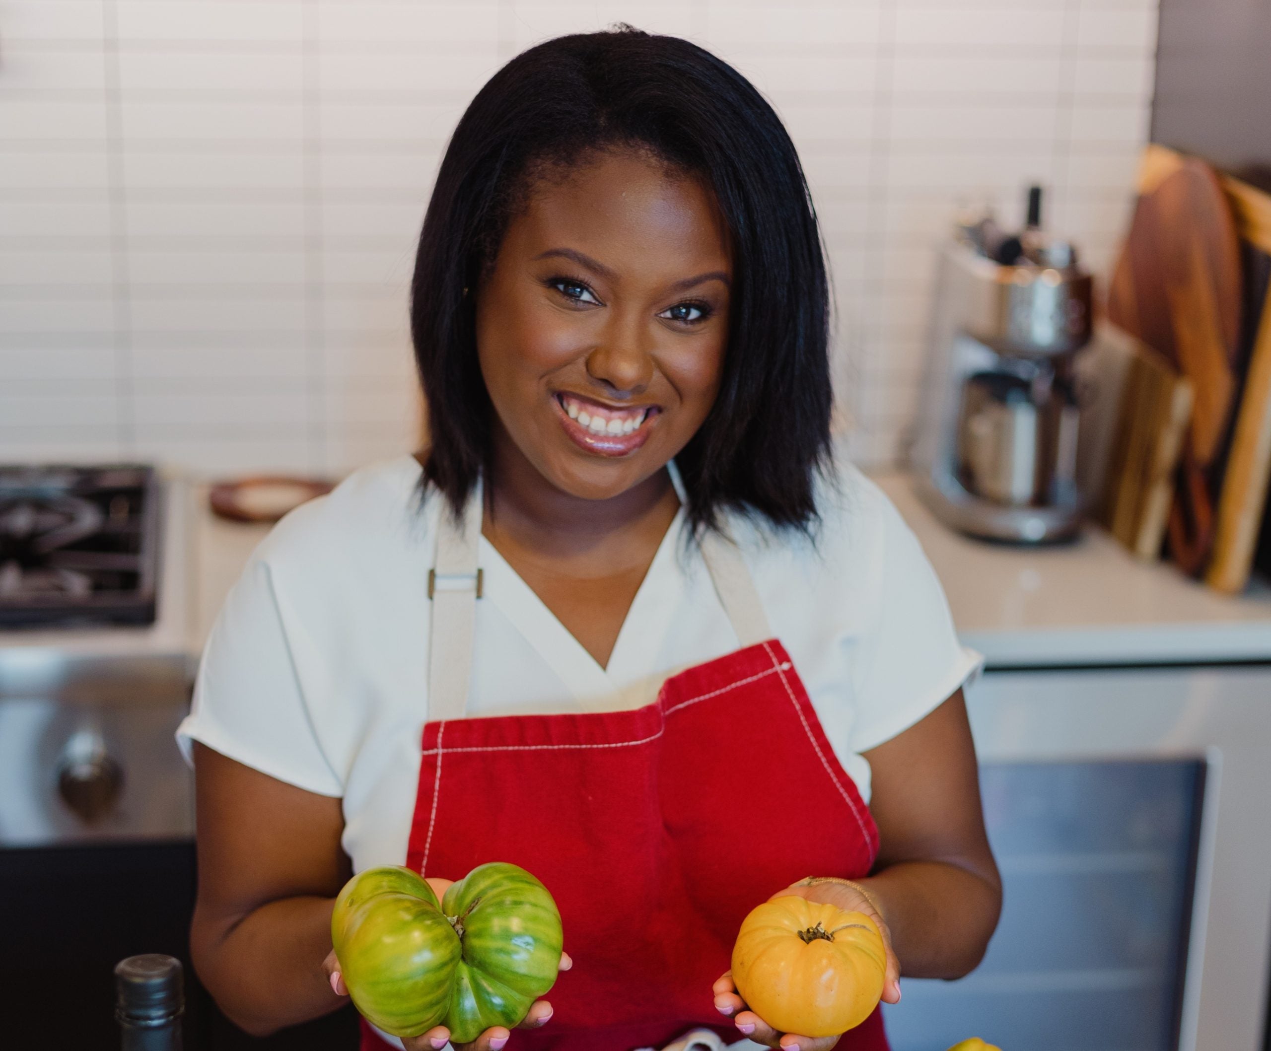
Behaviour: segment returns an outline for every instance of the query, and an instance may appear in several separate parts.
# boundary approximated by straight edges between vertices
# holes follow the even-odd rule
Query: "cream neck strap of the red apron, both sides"
[[[680,473],[674,461],[667,466],[683,505],[686,498]],[[483,511],[484,501],[478,482],[459,522],[445,505],[437,521],[437,553],[433,568],[428,571],[428,597],[432,600],[428,719],[432,722],[460,719],[468,704],[477,600],[482,597],[478,553]],[[700,548],[710,582],[737,634],[737,642],[745,648],[771,638],[763,600],[732,538],[710,530],[703,534]]]

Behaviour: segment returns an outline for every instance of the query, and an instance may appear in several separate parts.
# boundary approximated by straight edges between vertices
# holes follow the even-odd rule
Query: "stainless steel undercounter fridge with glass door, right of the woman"
[[[894,1051],[1261,1051],[1268,699],[1267,663],[990,658],[967,712],[1002,923],[962,981],[901,980]]]

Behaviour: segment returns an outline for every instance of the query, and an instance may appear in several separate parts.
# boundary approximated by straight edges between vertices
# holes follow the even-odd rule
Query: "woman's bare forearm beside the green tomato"
[[[194,910],[194,967],[235,1024],[266,1036],[347,1003],[334,994],[323,970],[334,905],[330,897],[287,897],[239,920]]]

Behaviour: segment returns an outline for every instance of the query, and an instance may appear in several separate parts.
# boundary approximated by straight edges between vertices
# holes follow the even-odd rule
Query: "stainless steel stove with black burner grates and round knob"
[[[139,953],[186,965],[187,1051],[356,1046],[348,1012],[253,1041],[191,967],[188,501],[139,465],[0,469],[5,1047],[117,1047],[113,967]]]

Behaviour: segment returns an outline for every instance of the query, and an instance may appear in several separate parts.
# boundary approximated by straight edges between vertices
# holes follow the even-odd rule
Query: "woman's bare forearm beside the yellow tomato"
[[[897,862],[858,881],[891,930],[905,975],[958,979],[984,957],[1002,910],[1002,887],[944,862]]]

